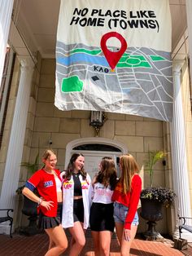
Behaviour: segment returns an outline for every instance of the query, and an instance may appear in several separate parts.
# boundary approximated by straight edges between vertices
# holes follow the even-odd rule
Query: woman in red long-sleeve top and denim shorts
[[[142,179],[137,174],[137,162],[132,155],[120,157],[121,176],[113,192],[116,234],[120,241],[120,254],[129,255],[137,232],[137,205],[142,190]]]

